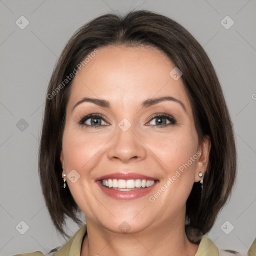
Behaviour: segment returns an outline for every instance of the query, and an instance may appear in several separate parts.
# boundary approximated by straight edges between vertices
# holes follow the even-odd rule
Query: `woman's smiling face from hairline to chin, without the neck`
[[[60,159],[87,223],[136,232],[184,222],[207,146],[174,67],[155,48],[109,46],[73,78]]]

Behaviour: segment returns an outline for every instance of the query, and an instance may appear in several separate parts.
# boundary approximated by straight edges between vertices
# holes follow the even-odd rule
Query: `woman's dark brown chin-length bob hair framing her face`
[[[147,10],[124,16],[104,14],[82,25],[64,47],[49,81],[39,145],[38,168],[43,196],[51,219],[64,237],[65,219],[82,224],[81,213],[63,179],[60,162],[65,110],[72,79],[88,54],[107,45],[149,46],[159,49],[182,72],[198,139],[211,142],[203,190],[194,182],[186,202],[186,227],[207,233],[227,201],[236,173],[236,150],[232,123],[214,68],[196,39],[174,20]],[[78,70],[77,70],[78,71]],[[65,83],[63,83],[65,81]],[[60,85],[62,83],[62,86]],[[193,239],[191,239],[193,241]]]

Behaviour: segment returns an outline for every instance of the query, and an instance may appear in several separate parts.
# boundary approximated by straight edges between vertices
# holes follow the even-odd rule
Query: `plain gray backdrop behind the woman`
[[[37,173],[47,83],[79,26],[100,14],[134,8],[182,24],[216,69],[234,124],[238,174],[230,201],[207,236],[220,248],[247,251],[256,236],[255,7],[255,0],[0,0],[0,255],[46,254],[64,242],[51,223]],[[29,21],[24,29],[15,24],[22,15]],[[220,23],[226,15],[234,21],[229,29]],[[29,226],[23,235],[15,228],[20,221]],[[73,234],[78,226],[67,222]]]

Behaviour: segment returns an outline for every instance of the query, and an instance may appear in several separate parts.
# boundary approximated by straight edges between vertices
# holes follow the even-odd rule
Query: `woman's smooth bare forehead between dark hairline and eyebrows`
[[[182,100],[189,109],[182,80],[174,80],[169,75],[174,67],[155,47],[98,48],[98,53],[73,78],[69,104],[85,96],[103,98],[111,104],[140,103],[146,98],[172,96]]]

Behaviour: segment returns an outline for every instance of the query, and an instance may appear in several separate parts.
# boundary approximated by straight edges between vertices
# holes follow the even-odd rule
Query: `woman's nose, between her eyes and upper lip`
[[[116,126],[116,135],[109,141],[107,156],[123,163],[139,161],[146,157],[146,146],[132,125],[126,131]]]

